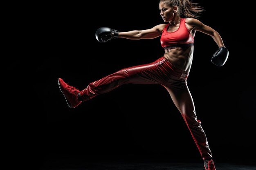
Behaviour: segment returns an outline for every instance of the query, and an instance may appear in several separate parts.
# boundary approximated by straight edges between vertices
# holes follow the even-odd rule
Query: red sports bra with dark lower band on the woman
[[[170,23],[164,27],[160,39],[161,45],[164,49],[194,45],[194,38],[189,29],[187,29],[185,20],[186,18],[180,18],[180,26],[174,32],[167,31]]]

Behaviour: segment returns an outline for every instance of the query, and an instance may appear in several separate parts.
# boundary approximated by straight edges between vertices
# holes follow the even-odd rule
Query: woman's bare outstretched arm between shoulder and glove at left
[[[128,32],[119,32],[119,38],[126,38],[130,40],[140,40],[140,39],[153,39],[162,35],[162,30],[166,24],[159,24],[151,29],[145,30],[134,30]]]

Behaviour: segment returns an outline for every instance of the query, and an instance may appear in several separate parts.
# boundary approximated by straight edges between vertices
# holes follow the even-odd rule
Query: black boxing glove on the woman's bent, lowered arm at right
[[[216,66],[223,66],[227,61],[228,56],[229,51],[226,49],[226,47],[221,46],[211,57],[211,62]]]

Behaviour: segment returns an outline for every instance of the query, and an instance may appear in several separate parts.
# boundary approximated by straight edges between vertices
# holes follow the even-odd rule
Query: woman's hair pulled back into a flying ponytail
[[[191,0],[159,0],[169,7],[177,6],[177,15],[181,18],[198,18],[199,14],[204,10],[203,7],[198,6],[199,3],[193,3]]]

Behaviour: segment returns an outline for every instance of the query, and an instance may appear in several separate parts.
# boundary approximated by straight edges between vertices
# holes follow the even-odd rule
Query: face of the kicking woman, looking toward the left
[[[160,2],[159,10],[164,22],[169,22],[174,20],[174,13],[176,13],[177,7],[171,8],[164,2]]]

